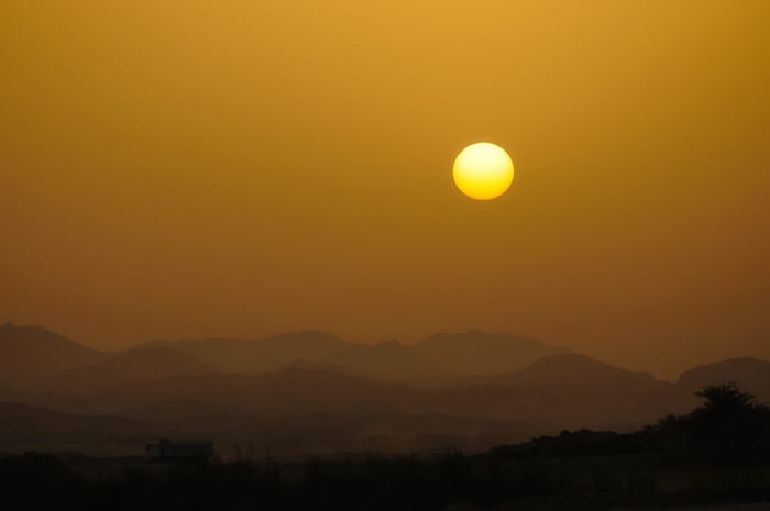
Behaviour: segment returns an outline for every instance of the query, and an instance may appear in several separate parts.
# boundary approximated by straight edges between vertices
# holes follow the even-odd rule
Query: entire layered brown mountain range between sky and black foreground
[[[564,347],[480,331],[414,345],[353,344],[304,331],[255,341],[152,341],[108,353],[8,324],[0,326],[0,367],[3,449],[158,434],[270,441],[287,452],[474,449],[563,429],[631,431],[689,411],[700,402],[694,391],[723,381],[770,398],[766,360],[723,360],[667,382]]]

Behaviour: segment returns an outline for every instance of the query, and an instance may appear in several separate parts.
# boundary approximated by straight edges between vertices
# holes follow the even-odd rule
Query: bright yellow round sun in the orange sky
[[[514,163],[503,148],[487,142],[469,145],[454,159],[454,184],[471,199],[505,193],[514,180]]]

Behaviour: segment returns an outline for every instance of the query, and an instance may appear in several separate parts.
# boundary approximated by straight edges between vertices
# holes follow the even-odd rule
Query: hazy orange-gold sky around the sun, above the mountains
[[[769,358],[769,43],[763,0],[4,1],[0,320]]]

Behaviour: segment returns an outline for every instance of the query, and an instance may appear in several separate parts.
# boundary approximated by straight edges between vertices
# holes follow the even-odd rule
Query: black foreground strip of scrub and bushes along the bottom
[[[600,510],[770,500],[770,407],[735,381],[704,403],[628,434],[562,432],[468,456],[370,455],[279,464],[125,466],[86,479],[26,453],[0,462],[3,510]]]

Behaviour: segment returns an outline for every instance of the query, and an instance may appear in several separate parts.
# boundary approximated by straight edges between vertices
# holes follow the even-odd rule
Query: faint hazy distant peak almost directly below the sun
[[[479,330],[431,335],[411,347],[459,375],[510,373],[540,358],[569,353],[563,346],[549,346],[534,338]]]

